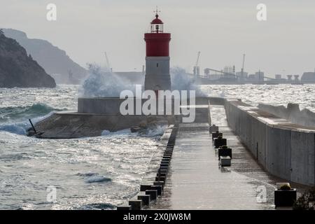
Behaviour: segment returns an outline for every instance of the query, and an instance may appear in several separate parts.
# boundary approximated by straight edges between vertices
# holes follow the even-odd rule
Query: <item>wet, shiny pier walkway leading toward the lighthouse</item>
[[[207,123],[180,124],[164,195],[150,209],[274,209],[276,182],[233,134],[223,106],[211,108],[232,148],[231,167],[219,167]]]

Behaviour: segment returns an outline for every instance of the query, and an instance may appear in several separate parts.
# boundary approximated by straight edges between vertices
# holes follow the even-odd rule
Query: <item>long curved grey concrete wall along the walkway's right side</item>
[[[228,125],[268,172],[280,178],[309,186],[315,185],[315,132],[262,119],[259,109],[225,99]],[[305,128],[305,127],[304,127]]]

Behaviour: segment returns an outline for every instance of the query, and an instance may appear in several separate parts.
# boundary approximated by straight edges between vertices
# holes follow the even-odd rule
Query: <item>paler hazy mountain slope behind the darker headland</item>
[[[78,84],[87,76],[87,70],[73,62],[64,50],[50,42],[28,38],[27,34],[16,29],[3,29],[4,34],[20,43],[57,83]]]

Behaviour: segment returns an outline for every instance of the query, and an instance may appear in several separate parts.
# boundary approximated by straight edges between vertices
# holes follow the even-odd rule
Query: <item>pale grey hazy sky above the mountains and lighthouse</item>
[[[0,27],[25,31],[66,50],[78,64],[105,64],[116,71],[141,70],[144,32],[158,5],[165,31],[172,33],[171,64],[300,74],[315,68],[315,1],[212,0],[0,0]],[[46,20],[48,3],[57,5],[57,21]],[[256,19],[258,3],[267,5],[267,21]]]

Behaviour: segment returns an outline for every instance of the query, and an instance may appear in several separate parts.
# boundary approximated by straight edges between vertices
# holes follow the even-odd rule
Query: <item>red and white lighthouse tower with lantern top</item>
[[[169,41],[171,34],[163,32],[163,22],[158,10],[151,22],[151,33],[144,34],[146,41],[145,90],[171,90],[169,76]]]

